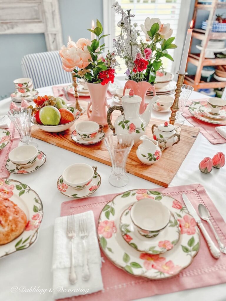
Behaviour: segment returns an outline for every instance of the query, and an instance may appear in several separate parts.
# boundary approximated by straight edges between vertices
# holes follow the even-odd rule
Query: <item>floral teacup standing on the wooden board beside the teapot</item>
[[[76,124],[75,131],[83,140],[92,140],[103,127],[94,121],[82,121]]]

